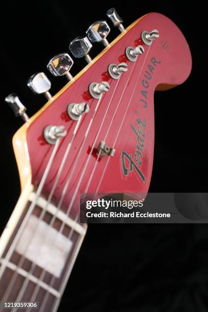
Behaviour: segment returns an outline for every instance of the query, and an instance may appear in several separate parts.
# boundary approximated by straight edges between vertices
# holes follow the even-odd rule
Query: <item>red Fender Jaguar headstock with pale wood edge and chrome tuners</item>
[[[21,186],[40,185],[56,148],[42,193],[47,197],[53,190],[55,202],[64,194],[64,206],[80,193],[148,191],[154,90],[183,83],[191,71],[187,41],[166,16],[150,13],[127,29],[115,11],[109,10],[108,16],[122,33],[109,43],[109,26],[99,21],[88,29],[88,37],[73,41],[73,56],[88,62],[76,76],[70,74],[73,60],[68,53],[49,62],[52,74],[69,79],[56,95],[50,95],[44,73],[31,77],[29,86],[48,99],[40,111],[28,119],[13,99],[17,114],[26,120],[13,139]],[[95,41],[105,48],[92,60]]]

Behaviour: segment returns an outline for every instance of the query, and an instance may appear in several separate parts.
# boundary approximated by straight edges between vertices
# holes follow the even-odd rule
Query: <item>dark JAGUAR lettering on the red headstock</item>
[[[140,102],[142,102],[142,105],[144,108],[147,108],[149,81],[151,80],[153,70],[155,69],[157,64],[160,64],[160,63],[161,63],[161,61],[157,61],[153,57],[153,58],[151,58],[151,63],[147,65],[148,70],[145,71],[144,79],[142,80],[142,88],[144,88],[144,90],[141,90],[142,98],[140,99]]]

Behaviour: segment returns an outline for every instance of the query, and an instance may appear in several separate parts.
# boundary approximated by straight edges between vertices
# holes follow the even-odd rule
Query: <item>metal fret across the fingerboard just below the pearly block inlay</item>
[[[12,271],[17,272],[19,275],[23,277],[27,277],[30,281],[32,281],[35,284],[39,284],[41,288],[52,294],[53,296],[59,298],[61,296],[61,293],[59,293],[56,289],[50,287],[48,284],[46,284],[43,281],[40,281],[36,276],[29,274],[27,271],[23,270],[22,268],[18,268],[15,264],[11,262],[5,261],[4,258],[0,259],[0,263],[11,269]]]

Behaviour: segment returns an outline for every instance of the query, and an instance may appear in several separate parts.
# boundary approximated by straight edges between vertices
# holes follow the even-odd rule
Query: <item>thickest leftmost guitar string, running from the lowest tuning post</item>
[[[31,216],[31,213],[32,213],[32,211],[33,211],[33,209],[34,209],[34,207],[35,207],[35,205],[37,203],[38,197],[41,194],[42,188],[43,188],[43,186],[45,184],[45,180],[46,180],[47,175],[48,175],[48,173],[50,171],[50,167],[51,167],[51,165],[53,163],[53,160],[55,158],[56,152],[58,150],[59,143],[60,143],[60,139],[58,139],[56,141],[56,144],[55,144],[55,146],[53,148],[53,151],[52,151],[52,153],[50,155],[49,161],[47,163],[47,166],[46,166],[45,171],[43,173],[43,176],[41,178],[39,187],[38,187],[37,192],[36,192],[36,196],[35,196],[34,200],[32,201],[32,203],[31,203],[31,205],[30,205],[30,207],[28,209],[28,212],[25,215],[25,217],[24,217],[24,219],[23,219],[23,221],[22,221],[22,223],[21,223],[21,225],[20,225],[20,227],[19,227],[19,229],[18,229],[18,231],[16,233],[16,236],[15,236],[14,240],[13,240],[11,246],[9,247],[9,250],[6,253],[6,256],[4,257],[4,264],[2,264],[2,266],[0,268],[0,278],[2,277],[5,269],[7,268],[7,264],[9,263],[10,257],[12,256],[12,253],[13,253],[15,247],[16,247],[16,244],[17,244],[20,236],[21,236],[21,233],[22,233],[22,231],[24,229],[24,226],[28,222],[29,217]]]

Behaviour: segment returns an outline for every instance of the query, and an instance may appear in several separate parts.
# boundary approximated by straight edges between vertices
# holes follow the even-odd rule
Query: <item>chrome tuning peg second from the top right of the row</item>
[[[105,20],[99,20],[88,28],[86,34],[91,42],[102,42],[105,46],[110,46],[106,39],[110,30],[111,29]]]

